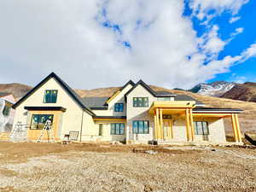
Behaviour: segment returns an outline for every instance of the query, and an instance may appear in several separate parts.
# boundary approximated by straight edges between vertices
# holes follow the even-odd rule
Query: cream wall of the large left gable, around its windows
[[[44,91],[45,90],[58,90],[56,103],[44,103]],[[82,108],[73,101],[72,97],[67,94],[60,84],[55,79],[49,79],[48,82],[43,84],[38,90],[36,90],[31,96],[26,98],[24,102],[16,108],[14,126],[17,122],[21,122],[23,125],[30,124],[28,112],[24,107],[62,107],[67,108],[67,111],[63,113],[62,122],[60,127],[60,137],[63,139],[65,134],[69,131],[80,131],[82,122]],[[91,118],[92,119],[92,118]]]

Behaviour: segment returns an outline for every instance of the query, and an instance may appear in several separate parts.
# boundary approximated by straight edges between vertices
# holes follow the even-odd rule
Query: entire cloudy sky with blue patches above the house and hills
[[[0,83],[256,81],[253,0],[1,0]]]

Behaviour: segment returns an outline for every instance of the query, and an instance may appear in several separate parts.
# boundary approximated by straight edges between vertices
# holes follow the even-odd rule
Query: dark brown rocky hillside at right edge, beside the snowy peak
[[[247,82],[244,84],[236,84],[221,97],[245,102],[256,102],[256,83]]]

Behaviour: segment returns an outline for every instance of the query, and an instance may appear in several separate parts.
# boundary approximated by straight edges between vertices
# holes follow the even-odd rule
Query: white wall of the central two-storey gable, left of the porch
[[[147,108],[133,108],[133,97],[148,97]],[[141,84],[131,91],[127,96],[127,140],[147,142],[152,140],[154,137],[154,116],[148,113],[152,102],[156,101],[157,98],[152,96],[148,90],[145,90]],[[149,134],[133,134],[132,132],[132,121],[133,120],[148,120],[149,121]]]

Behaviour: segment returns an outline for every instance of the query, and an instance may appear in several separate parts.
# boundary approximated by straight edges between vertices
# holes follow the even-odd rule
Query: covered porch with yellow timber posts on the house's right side
[[[195,128],[195,126],[197,126],[197,122],[206,123],[207,134],[209,134],[208,122],[217,122],[219,119],[230,118],[235,142],[238,144],[242,143],[237,115],[237,113],[241,113],[239,109],[195,108],[195,102],[193,101],[156,101],[149,108],[149,113],[154,115],[154,140],[159,142],[175,143],[177,142],[177,137],[180,137],[177,134],[181,134],[184,137],[183,140],[179,139],[179,142],[183,143],[198,143],[201,141],[207,143],[226,143],[224,124],[215,123],[214,127],[217,127],[217,129],[214,130],[213,124],[209,125],[212,129],[210,130],[212,134],[210,139],[208,135],[202,135],[201,140],[198,139],[198,133],[195,133],[195,131],[197,132],[197,127]],[[177,128],[178,119],[182,119],[180,124],[183,125],[184,133],[181,132],[182,125],[179,125],[180,127]],[[218,131],[224,137],[221,141],[218,141]]]

